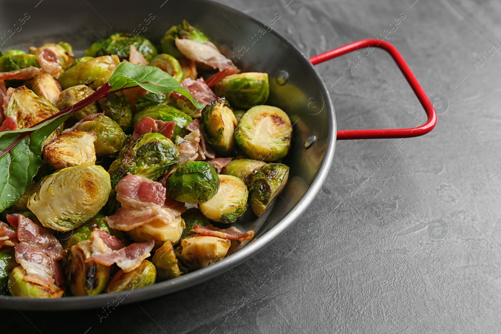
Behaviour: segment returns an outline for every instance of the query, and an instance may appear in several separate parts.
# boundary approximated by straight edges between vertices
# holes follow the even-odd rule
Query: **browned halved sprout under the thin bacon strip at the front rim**
[[[181,240],[176,252],[188,270],[196,270],[222,260],[230,245],[230,240],[217,236],[190,235]]]

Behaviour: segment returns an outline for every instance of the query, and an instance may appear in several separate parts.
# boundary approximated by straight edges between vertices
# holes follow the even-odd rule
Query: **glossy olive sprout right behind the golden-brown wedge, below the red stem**
[[[94,148],[98,157],[117,155],[127,139],[127,135],[117,122],[105,115],[85,121],[75,130],[92,132],[97,136]]]

